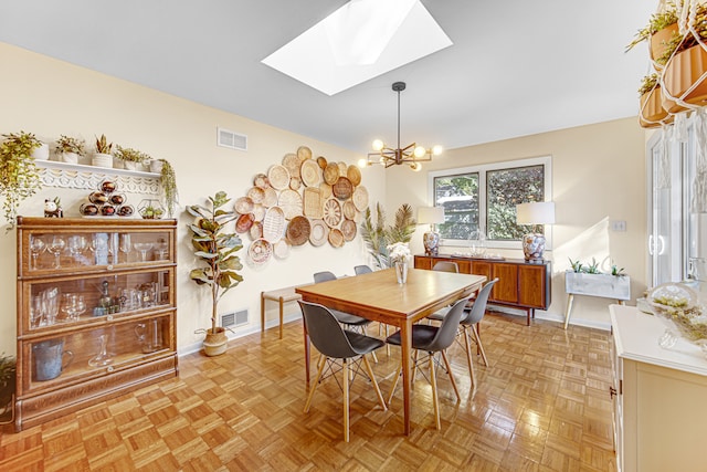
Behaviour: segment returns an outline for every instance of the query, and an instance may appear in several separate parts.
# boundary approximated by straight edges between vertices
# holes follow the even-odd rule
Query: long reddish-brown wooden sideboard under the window
[[[439,261],[456,262],[464,274],[498,277],[488,303],[525,310],[527,324],[536,310],[550,306],[550,262],[526,262],[517,259],[474,259],[452,255],[415,255],[415,269],[432,269]]]

